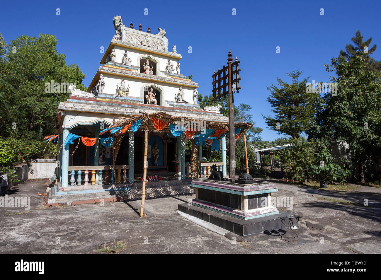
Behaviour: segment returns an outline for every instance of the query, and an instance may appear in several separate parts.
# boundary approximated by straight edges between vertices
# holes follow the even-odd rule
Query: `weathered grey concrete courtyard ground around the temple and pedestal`
[[[93,253],[118,241],[126,246],[118,253],[381,253],[381,189],[373,187],[335,192],[276,181],[275,196],[292,197],[291,211],[303,216],[299,237],[285,242],[276,233],[231,240],[181,218],[177,204],[194,195],[146,200],[140,218],[140,200],[46,208],[38,193],[47,184],[27,180],[8,192],[30,197],[31,207],[0,208],[0,253]]]

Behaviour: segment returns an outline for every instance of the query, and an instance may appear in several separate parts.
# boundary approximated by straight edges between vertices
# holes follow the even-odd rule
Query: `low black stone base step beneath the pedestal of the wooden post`
[[[215,224],[218,227],[222,227],[223,229],[241,236],[260,234],[271,230],[287,229],[287,226],[282,224],[279,217],[295,214],[289,211],[279,211],[279,214],[250,220],[241,220],[198,206],[188,205],[187,203],[178,204],[177,210],[202,219],[203,221],[210,222],[211,224]],[[298,224],[296,223],[294,226],[296,225]]]

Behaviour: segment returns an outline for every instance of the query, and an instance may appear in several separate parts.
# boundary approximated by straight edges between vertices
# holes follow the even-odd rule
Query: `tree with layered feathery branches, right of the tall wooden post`
[[[271,111],[275,116],[262,116],[269,129],[298,139],[301,133],[314,126],[315,103],[319,93],[307,92],[306,83],[309,77],[299,80],[303,72],[297,70],[286,74],[292,83],[277,78],[278,86],[271,84],[267,87],[271,93],[267,101],[274,108]]]

